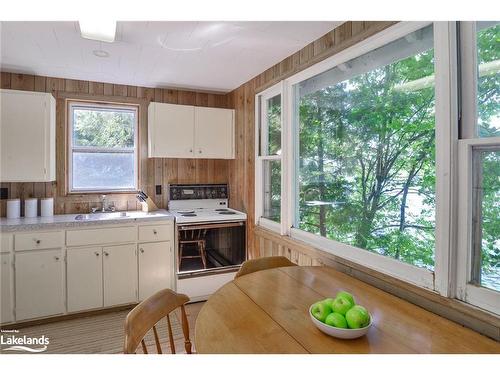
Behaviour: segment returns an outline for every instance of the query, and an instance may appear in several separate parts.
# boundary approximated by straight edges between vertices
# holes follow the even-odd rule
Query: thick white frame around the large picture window
[[[293,85],[329,70],[348,60],[361,56],[393,40],[432,24],[432,22],[400,22],[356,45],[349,47],[283,81],[282,92],[282,223],[280,233],[305,241],[312,246],[331,254],[351,260],[360,265],[397,277],[412,284],[436,290],[441,295],[450,295],[450,253],[454,243],[451,231],[454,223],[454,145],[457,138],[456,118],[456,39],[454,22],[434,22],[435,82],[436,90],[436,249],[435,271],[419,268],[386,256],[371,253],[338,241],[314,235],[293,227],[295,212],[294,186],[296,181],[295,163],[297,145],[294,139],[292,120],[294,118]],[[260,93],[257,95],[264,94]],[[256,118],[260,115],[256,106]],[[258,134],[256,133],[256,142]],[[257,144],[258,147],[258,144]],[[256,148],[257,149],[257,148]],[[256,163],[256,173],[258,170]],[[256,192],[261,190],[261,179],[256,176]],[[256,199],[256,210],[261,203]],[[259,219],[256,211],[256,224],[266,224]],[[268,227],[269,229],[273,229]]]

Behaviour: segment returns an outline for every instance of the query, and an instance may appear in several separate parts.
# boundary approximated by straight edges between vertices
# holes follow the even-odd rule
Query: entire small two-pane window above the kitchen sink
[[[137,190],[137,107],[69,104],[70,192]]]

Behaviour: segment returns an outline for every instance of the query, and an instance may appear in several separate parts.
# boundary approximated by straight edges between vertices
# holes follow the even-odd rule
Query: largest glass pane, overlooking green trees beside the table
[[[432,269],[432,26],[303,81],[295,89],[299,143],[295,225]]]

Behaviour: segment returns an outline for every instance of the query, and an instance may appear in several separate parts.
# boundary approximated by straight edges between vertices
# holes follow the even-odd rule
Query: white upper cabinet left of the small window
[[[0,90],[2,182],[55,180],[56,103],[51,94]]]

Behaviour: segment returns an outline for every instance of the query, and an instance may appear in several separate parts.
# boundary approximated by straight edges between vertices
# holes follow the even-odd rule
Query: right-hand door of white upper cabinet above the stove
[[[195,157],[234,158],[234,110],[195,107]]]

